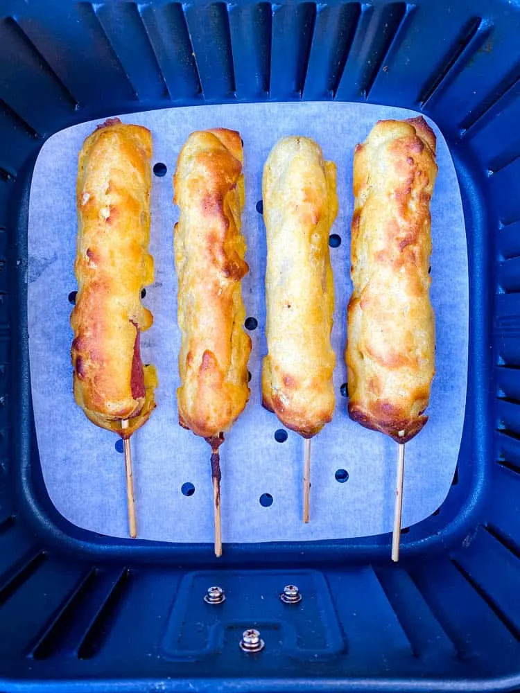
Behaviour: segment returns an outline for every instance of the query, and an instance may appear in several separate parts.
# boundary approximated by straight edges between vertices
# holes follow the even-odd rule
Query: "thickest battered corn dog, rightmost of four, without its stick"
[[[435,373],[430,200],[435,134],[422,117],[379,121],[354,153],[349,414],[405,443],[428,416]]]

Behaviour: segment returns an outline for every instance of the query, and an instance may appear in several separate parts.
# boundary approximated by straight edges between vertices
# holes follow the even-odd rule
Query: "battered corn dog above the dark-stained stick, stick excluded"
[[[233,130],[193,132],[177,161],[179,423],[205,438],[229,429],[249,399],[251,340],[243,330],[243,150]]]

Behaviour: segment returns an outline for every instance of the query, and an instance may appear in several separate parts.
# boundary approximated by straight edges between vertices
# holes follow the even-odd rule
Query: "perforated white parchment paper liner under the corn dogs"
[[[144,304],[155,317],[142,335],[144,362],[159,374],[157,409],[132,437],[139,537],[173,542],[209,542],[213,538],[209,448],[177,425],[175,391],[177,283],[173,262],[172,175],[180,148],[193,130],[239,130],[245,150],[246,206],[243,233],[250,273],[243,280],[247,314],[258,321],[249,369],[251,398],[221,450],[223,540],[291,541],[362,536],[390,532],[394,507],[397,445],[349,420],[340,394],[346,380],[343,351],[349,278],[352,217],[352,155],[378,119],[408,118],[406,109],[351,103],[261,103],[165,109],[121,116],[153,133],[153,164],[168,171],[153,176],[150,251],[155,283]],[[83,123],[55,134],[37,159],[31,188],[28,243],[28,328],[31,383],[37,441],[46,487],[60,513],[80,527],[127,536],[123,455],[119,439],[87,421],[73,401],[69,292],[76,289],[75,186],[77,155],[83,140],[101,121]],[[437,326],[437,375],[433,381],[430,421],[406,445],[403,526],[430,515],[447,495],[462,435],[467,381],[468,273],[465,226],[456,173],[444,138],[437,133],[439,175],[432,202],[433,256],[431,299]],[[282,428],[261,407],[261,358],[266,308],[263,275],[266,237],[256,205],[261,200],[263,164],[279,137],[313,137],[338,166],[340,211],[332,229],[341,238],[331,248],[336,291],[332,333],[336,351],[336,413],[312,441],[311,523],[302,523],[303,441]],[[290,249],[289,249],[290,251]],[[348,480],[338,482],[336,471]],[[344,475],[345,476],[345,475]],[[183,495],[182,486],[194,493]],[[272,496],[263,507],[262,494]]]

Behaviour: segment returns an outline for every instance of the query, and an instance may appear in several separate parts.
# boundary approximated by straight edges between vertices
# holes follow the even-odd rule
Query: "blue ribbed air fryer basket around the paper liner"
[[[6,0],[0,17],[0,689],[519,687],[518,4]],[[419,109],[451,146],[471,303],[465,432],[446,502],[405,531],[398,567],[388,536],[229,546],[216,563],[209,546],[71,527],[42,484],[28,383],[27,195],[42,142],[73,123],[148,107],[302,98]],[[199,604],[200,574],[214,581],[217,570],[225,584],[250,569],[248,590],[221,605],[218,649],[166,657],[181,581],[182,599]],[[274,587],[263,593],[262,569],[277,571],[280,591],[295,570],[322,572],[300,608],[318,599],[316,649],[318,631],[337,622],[339,651],[326,661],[291,656],[277,633],[305,622],[294,607],[280,612]],[[236,624],[256,618],[251,604],[262,595],[266,648],[242,655]],[[186,613],[196,620],[180,638],[210,638],[215,612]],[[306,631],[305,648],[310,640]]]

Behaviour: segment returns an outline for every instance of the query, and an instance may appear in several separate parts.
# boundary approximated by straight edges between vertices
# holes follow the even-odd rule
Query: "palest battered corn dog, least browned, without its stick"
[[[263,406],[305,438],[334,411],[334,288],[329,232],[338,213],[336,166],[306,137],[286,137],[263,168],[267,231]]]

